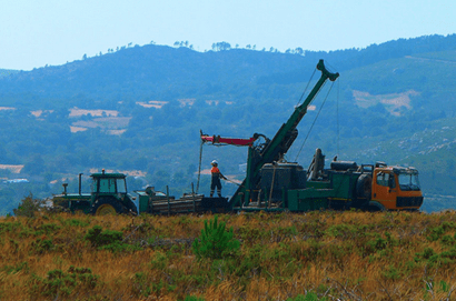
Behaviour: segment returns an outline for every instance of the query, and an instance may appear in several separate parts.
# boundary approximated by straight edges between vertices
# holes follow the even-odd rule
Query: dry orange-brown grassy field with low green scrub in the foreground
[[[0,300],[454,300],[456,212],[219,215],[222,259],[191,243],[212,215],[0,220]]]

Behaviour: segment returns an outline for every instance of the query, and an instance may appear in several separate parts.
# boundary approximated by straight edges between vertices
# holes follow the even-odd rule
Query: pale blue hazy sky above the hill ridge
[[[455,0],[0,0],[0,69],[63,64],[130,42],[327,51],[435,33],[456,33]]]

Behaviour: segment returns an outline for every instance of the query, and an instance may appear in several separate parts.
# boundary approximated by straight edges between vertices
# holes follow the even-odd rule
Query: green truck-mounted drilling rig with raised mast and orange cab
[[[296,162],[286,162],[284,155],[298,136],[297,126],[308,106],[327,80],[335,81],[339,73],[329,72],[320,60],[321,76],[305,101],[269,140],[254,134],[250,139],[209,137],[204,142],[248,146],[246,179],[229,200],[232,211],[309,211],[317,209],[412,210],[423,203],[418,171],[414,168],[388,167],[385,163],[358,167],[353,161],[330,162],[325,169],[325,155],[317,149],[310,167],[305,170]],[[264,143],[255,141],[264,137]]]

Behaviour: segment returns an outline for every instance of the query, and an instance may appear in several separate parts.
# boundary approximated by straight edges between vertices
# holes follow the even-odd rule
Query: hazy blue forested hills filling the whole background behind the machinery
[[[0,70],[1,212],[29,192],[60,192],[63,181],[76,190],[77,173],[101,168],[135,174],[130,190],[188,191],[199,130],[272,137],[319,59],[340,77],[328,101],[329,84],[301,121],[288,159],[306,167],[319,147],[327,158],[415,165],[426,193],[456,195],[456,34],[330,52],[218,44],[224,50],[125,47],[63,66]],[[244,177],[245,149],[204,151],[205,165],[217,158],[225,173]],[[206,189],[208,179],[201,181]]]

